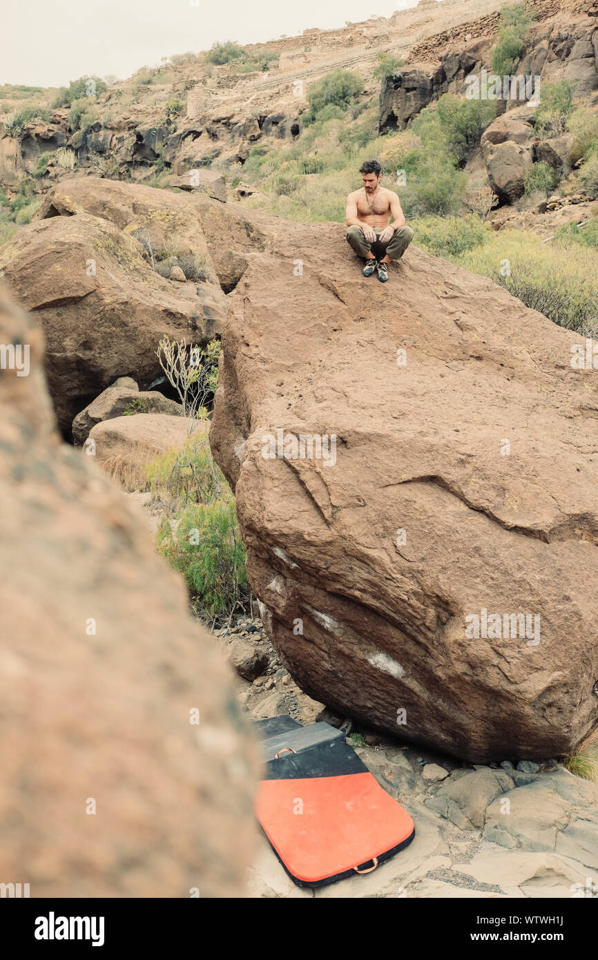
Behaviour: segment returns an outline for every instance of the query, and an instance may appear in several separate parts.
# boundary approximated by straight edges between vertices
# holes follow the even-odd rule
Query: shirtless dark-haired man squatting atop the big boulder
[[[364,276],[374,270],[381,283],[389,278],[388,265],[398,260],[413,240],[413,230],[405,226],[400,201],[392,190],[380,186],[382,167],[377,160],[366,160],[359,170],[363,188],[347,197],[347,242],[364,257]],[[389,220],[393,217],[392,223]]]

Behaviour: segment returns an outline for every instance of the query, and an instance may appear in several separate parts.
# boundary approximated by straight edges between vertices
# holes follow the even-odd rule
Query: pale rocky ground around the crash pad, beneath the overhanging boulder
[[[215,633],[251,720],[290,713],[303,725],[324,720],[343,729],[416,824],[415,840],[388,863],[320,891],[299,889],[261,836],[251,897],[559,898],[586,889],[588,876],[598,883],[598,785],[574,777],[556,760],[484,766],[414,749],[306,696],[257,617],[239,618]]]

